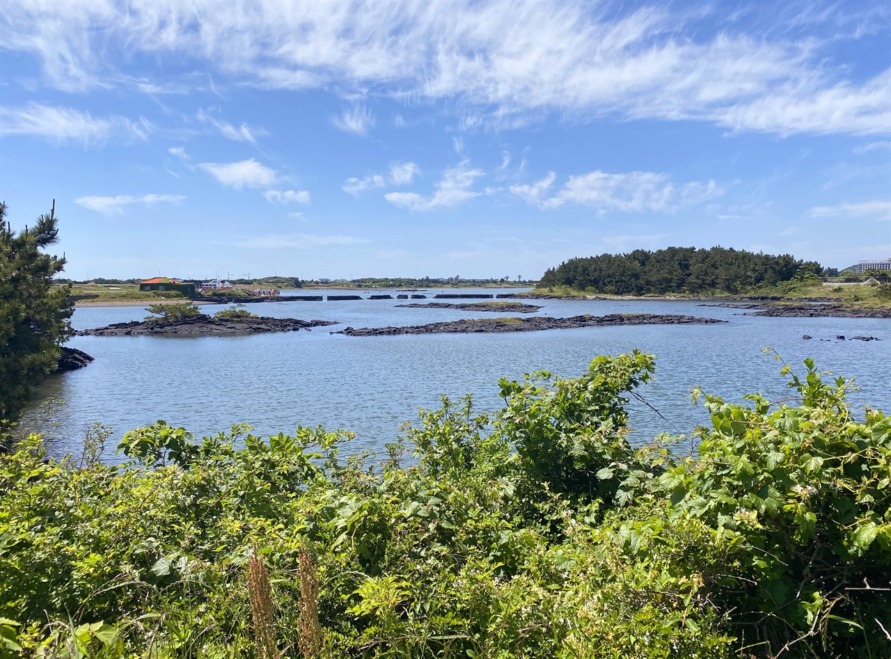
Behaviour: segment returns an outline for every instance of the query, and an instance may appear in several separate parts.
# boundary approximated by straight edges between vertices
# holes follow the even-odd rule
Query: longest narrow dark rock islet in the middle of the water
[[[452,322],[431,322],[427,325],[408,327],[366,327],[341,329],[332,334],[346,334],[347,337],[393,337],[399,334],[472,334],[477,332],[532,332],[542,329],[574,329],[580,327],[609,327],[614,325],[680,325],[689,323],[712,324],[715,318],[696,318],[674,314],[655,313],[613,313],[608,316],[572,316],[571,318],[483,318]]]

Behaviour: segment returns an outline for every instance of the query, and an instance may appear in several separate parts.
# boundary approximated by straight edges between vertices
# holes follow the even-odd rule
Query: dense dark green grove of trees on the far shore
[[[789,254],[772,256],[721,247],[635,249],[628,254],[570,259],[544,273],[539,285],[611,295],[740,293],[822,271],[815,261],[797,260]]]

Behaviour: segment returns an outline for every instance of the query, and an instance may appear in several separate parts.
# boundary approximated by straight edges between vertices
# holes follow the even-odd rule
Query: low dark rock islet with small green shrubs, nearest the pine
[[[106,327],[82,329],[81,337],[218,337],[259,332],[290,332],[336,325],[336,321],[300,321],[296,318],[211,318],[200,314],[180,321],[116,322]]]

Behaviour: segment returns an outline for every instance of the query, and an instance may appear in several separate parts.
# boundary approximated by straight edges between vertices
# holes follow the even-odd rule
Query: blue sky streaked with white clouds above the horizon
[[[887,3],[0,4],[0,197],[67,275],[891,256]]]

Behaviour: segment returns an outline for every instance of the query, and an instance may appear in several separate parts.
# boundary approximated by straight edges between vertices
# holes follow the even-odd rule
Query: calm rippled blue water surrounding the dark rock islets
[[[327,291],[326,291],[327,292]],[[364,294],[365,291],[331,291]],[[438,290],[426,292],[432,297]],[[454,291],[451,291],[454,292]],[[460,291],[470,292],[470,291]],[[510,292],[504,289],[485,292]],[[393,294],[395,297],[395,293]],[[447,300],[446,300],[447,301]],[[69,346],[95,357],[87,368],[55,376],[39,395],[65,402],[53,413],[58,424],[54,452],[75,452],[86,424],[102,421],[117,439],[156,419],[196,435],[247,422],[257,434],[292,432],[323,424],[357,433],[355,450],[381,451],[399,425],[416,419],[439,395],[473,393],[480,411],[500,407],[498,378],[521,378],[534,370],[575,376],[598,354],[633,348],[658,355],[656,380],[639,392],[674,427],[639,403],[632,427],[638,439],[660,431],[689,433],[707,422],[694,408],[690,390],[702,386],[728,401],[761,391],[789,395],[780,364],[762,354],[772,346],[804,372],[812,356],[822,370],[857,378],[855,402],[891,410],[887,364],[891,321],[879,319],[757,318],[740,310],[691,302],[539,300],[539,314],[688,313],[730,321],[726,325],[554,329],[519,334],[455,334],[349,338],[331,335],[347,325],[412,325],[492,314],[440,309],[397,309],[396,300],[290,302],[247,305],[261,315],[340,321],[311,331],[249,337],[151,338],[76,337]],[[210,306],[213,312],[222,306]],[[79,307],[78,329],[143,318],[143,307]],[[809,334],[814,340],[802,340]],[[881,341],[838,341],[837,335],[873,336]],[[820,341],[819,339],[831,339]]]

